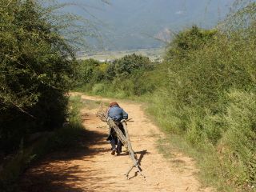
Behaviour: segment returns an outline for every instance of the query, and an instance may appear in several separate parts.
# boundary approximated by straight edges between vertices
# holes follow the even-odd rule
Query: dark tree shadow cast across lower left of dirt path
[[[95,131],[85,130],[82,134],[82,139],[78,147],[74,149],[60,149],[58,152],[47,155],[47,158],[30,166],[26,173],[22,175],[21,182],[18,185],[18,191],[22,192],[62,192],[62,191],[92,191],[83,187],[83,183],[88,179],[98,179],[96,171],[86,170],[80,165],[82,163],[72,163],[67,161],[93,161],[94,155],[108,150],[103,147],[94,149],[93,146],[97,143],[98,146],[104,144],[106,134],[101,134]],[[86,156],[86,160],[85,159]],[[86,162],[87,163],[87,162]],[[91,178],[93,177],[93,178]],[[86,178],[86,180],[84,179]]]

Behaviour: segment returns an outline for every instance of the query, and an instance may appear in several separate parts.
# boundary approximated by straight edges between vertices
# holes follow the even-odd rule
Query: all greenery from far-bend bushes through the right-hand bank
[[[256,4],[238,1],[218,27],[176,34],[162,63],[132,54],[80,62],[78,90],[149,103],[167,140],[221,191],[256,188]]]

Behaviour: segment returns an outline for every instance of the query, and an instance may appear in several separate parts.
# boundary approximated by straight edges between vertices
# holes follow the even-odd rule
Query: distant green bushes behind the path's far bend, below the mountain
[[[126,55],[114,62],[89,59],[80,62],[77,84],[79,90],[93,94],[117,98],[139,96],[156,88],[153,79],[155,65],[149,58],[136,54]]]

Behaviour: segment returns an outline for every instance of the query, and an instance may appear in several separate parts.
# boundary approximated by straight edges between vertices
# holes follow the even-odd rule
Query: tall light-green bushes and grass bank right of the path
[[[227,183],[233,186],[230,191],[253,191],[255,32],[251,28],[250,34],[243,31],[226,36],[219,32],[202,44],[198,38],[204,31],[198,30],[195,35],[194,30],[182,32],[170,47],[169,58],[163,64],[167,69],[166,86],[149,98],[150,113],[164,130],[181,135],[198,150],[204,174],[215,177],[211,181],[221,183],[220,189]],[[184,34],[190,38],[184,38]],[[201,46],[186,50],[184,44],[180,46],[184,41]]]

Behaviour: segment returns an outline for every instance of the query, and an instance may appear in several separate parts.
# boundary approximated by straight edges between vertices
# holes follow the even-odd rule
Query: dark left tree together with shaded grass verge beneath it
[[[1,191],[15,190],[30,162],[75,145],[81,134],[79,98],[69,102],[67,92],[85,30],[80,18],[58,12],[64,6],[0,1]]]

